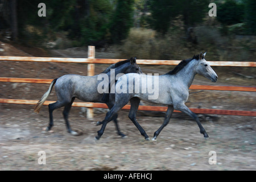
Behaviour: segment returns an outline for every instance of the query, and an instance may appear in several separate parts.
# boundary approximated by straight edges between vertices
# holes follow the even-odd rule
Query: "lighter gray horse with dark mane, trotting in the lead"
[[[141,135],[143,135],[146,140],[149,140],[148,135],[142,129],[141,125],[139,125],[136,119],[139,102],[141,100],[148,101],[153,104],[168,105],[168,109],[164,117],[164,122],[162,126],[160,126],[160,128],[154,133],[154,138],[152,140],[156,140],[156,137],[158,137],[160,131],[162,131],[162,129],[168,124],[174,109],[182,111],[183,113],[188,114],[193,119],[195,119],[197,125],[200,128],[200,133],[203,134],[205,138],[208,138],[208,134],[206,133],[204,127],[201,125],[197,115],[193,113],[187,106],[185,106],[185,102],[188,100],[189,86],[191,86],[192,81],[197,73],[203,75],[213,82],[217,81],[218,77],[207,63],[207,61],[204,59],[205,55],[206,52],[204,54],[200,53],[200,55],[193,56],[192,59],[183,60],[174,68],[174,70],[166,73],[165,75],[148,76],[144,74],[138,75],[135,73],[129,73],[120,77],[117,81],[117,84],[115,85],[116,91],[114,106],[108,113],[106,113],[104,121],[97,122],[97,125],[102,125],[102,127],[98,131],[96,139],[100,139],[101,135],[104,133],[107,123],[123,106],[127,104],[127,102],[130,101],[131,109],[129,118],[141,132]],[[139,81],[137,88],[135,84],[136,80]],[[154,84],[150,84],[150,81],[148,80],[154,80]],[[144,89],[145,86],[143,86],[145,82],[147,83],[146,90]],[[152,92],[151,94],[148,93],[152,87],[155,89],[154,95],[152,95]],[[130,89],[129,91],[133,90],[133,92],[127,92],[127,90],[124,88],[127,90]],[[122,92],[120,92],[120,90],[122,90]]]

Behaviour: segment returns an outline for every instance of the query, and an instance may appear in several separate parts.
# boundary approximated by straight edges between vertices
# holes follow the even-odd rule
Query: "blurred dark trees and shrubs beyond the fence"
[[[41,2],[45,17],[38,16]],[[216,17],[208,15],[211,2]],[[181,60],[208,51],[208,60],[255,60],[255,22],[254,0],[0,0],[1,41],[118,52],[105,58]]]

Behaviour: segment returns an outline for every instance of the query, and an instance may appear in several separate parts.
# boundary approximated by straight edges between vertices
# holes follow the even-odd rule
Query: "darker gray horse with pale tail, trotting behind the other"
[[[141,68],[139,68],[136,63],[136,57],[131,57],[129,60],[119,61],[118,63],[110,65],[104,72],[105,75],[109,78],[110,82],[115,82],[115,80],[110,80],[112,78],[110,76],[110,70],[114,69],[115,76],[118,73],[142,73]],[[104,75],[104,74],[102,74]],[[113,79],[115,79],[115,76]],[[71,109],[72,103],[75,98],[78,98],[82,101],[86,102],[104,102],[108,105],[109,109],[114,105],[114,99],[109,99],[110,94],[108,93],[99,93],[97,90],[98,84],[101,80],[98,80],[98,75],[95,76],[81,76],[81,75],[64,75],[59,78],[54,79],[49,86],[49,89],[46,93],[44,93],[41,100],[35,106],[35,113],[39,113],[40,108],[46,101],[47,97],[51,93],[53,85],[55,84],[55,92],[57,95],[57,101],[49,104],[49,126],[46,128],[46,131],[51,130],[53,126],[53,110],[65,106],[63,110],[63,115],[65,119],[65,123],[67,126],[68,133],[72,135],[77,135],[76,131],[72,131],[68,122],[68,114]],[[104,95],[105,94],[105,95]],[[112,94],[113,95],[113,94]],[[102,97],[105,97],[102,100]],[[117,127],[118,135],[125,137],[124,134],[121,133],[118,127],[117,117],[114,118],[115,126]]]

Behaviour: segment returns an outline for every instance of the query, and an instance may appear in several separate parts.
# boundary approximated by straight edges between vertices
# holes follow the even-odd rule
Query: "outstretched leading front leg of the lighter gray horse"
[[[193,113],[185,104],[181,104],[179,106],[175,106],[174,109],[177,109],[187,115],[189,115],[191,118],[195,119],[197,125],[199,126],[200,129],[200,133],[204,135],[204,138],[208,138],[208,134],[205,131],[203,125],[201,124],[201,122],[199,121],[199,118],[197,117],[197,115],[195,113]]]

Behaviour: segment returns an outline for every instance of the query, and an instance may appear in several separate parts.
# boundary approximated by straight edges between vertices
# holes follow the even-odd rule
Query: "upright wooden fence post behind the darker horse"
[[[88,58],[94,59],[95,58],[95,47],[94,46],[88,46]],[[94,64],[88,64],[87,66],[87,76],[93,76],[94,75]],[[86,113],[87,118],[93,118],[93,108],[87,108]]]

